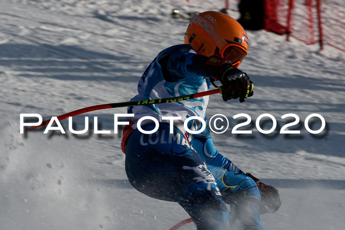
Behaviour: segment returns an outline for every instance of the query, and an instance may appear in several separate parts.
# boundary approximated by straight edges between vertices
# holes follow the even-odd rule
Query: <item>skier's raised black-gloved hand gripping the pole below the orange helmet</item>
[[[253,96],[253,82],[227,59],[211,56],[206,61],[206,69],[212,78],[223,84],[221,94],[224,101],[240,98],[240,102],[244,102]]]

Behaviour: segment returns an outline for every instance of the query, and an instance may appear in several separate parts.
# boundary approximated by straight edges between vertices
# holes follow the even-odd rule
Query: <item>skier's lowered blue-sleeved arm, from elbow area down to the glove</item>
[[[205,160],[206,164],[245,174],[239,167],[233,164],[232,161],[217,151],[208,128],[202,133],[193,134],[192,146]]]

